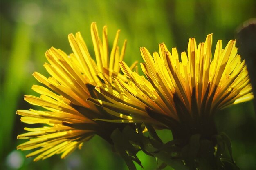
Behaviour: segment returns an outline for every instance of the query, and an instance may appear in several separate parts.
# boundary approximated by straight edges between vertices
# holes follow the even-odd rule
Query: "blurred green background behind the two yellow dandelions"
[[[57,155],[34,163],[33,158],[25,158],[29,151],[16,150],[23,142],[16,136],[27,126],[20,123],[16,110],[34,108],[23,101],[23,96],[37,95],[31,86],[39,83],[31,74],[38,71],[48,75],[43,67],[44,53],[51,46],[72,52],[67,40],[69,33],[81,31],[93,56],[92,22],[97,22],[100,33],[104,25],[108,26],[110,42],[121,29],[119,45],[128,40],[124,60],[131,64],[141,61],[139,47],[153,52],[161,42],[182,52],[187,49],[189,37],[195,37],[199,43],[213,33],[213,46],[218,39],[225,45],[234,39],[240,24],[256,17],[255,0],[1,0],[0,8],[0,168],[7,170],[128,169],[100,137],[86,142],[82,150],[64,160]],[[253,102],[222,110],[216,122],[218,130],[231,138],[238,166],[243,170],[255,169]],[[166,131],[159,134],[165,141],[171,139]],[[143,153],[139,153],[139,158],[144,169],[156,168],[153,158]]]

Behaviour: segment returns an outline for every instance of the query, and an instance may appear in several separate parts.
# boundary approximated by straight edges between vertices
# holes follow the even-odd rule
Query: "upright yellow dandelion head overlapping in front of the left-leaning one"
[[[235,42],[230,40],[222,49],[222,41],[218,40],[212,55],[212,34],[198,46],[195,38],[190,38],[188,53],[181,53],[180,58],[176,48],[168,51],[164,43],[159,44],[159,53],[153,53],[153,57],[141,48],[145,63],[140,65],[147,79],[120,62],[128,79],[114,77],[117,91],[96,87],[104,96],[115,99],[115,107],[109,102],[90,100],[125,119],[116,122],[162,123],[171,128],[178,123],[197,129],[199,122],[211,119],[217,110],[254,97],[245,61],[241,62],[236,54]]]

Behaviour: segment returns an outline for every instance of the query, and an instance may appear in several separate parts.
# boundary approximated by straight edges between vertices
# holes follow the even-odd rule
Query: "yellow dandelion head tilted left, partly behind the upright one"
[[[98,35],[95,23],[91,25],[91,35],[96,56],[96,62],[90,56],[81,33],[68,35],[68,40],[73,53],[65,54],[60,49],[51,48],[45,56],[48,63],[44,66],[51,77],[46,78],[40,73],[33,73],[34,77],[47,86],[34,85],[32,89],[40,97],[25,95],[25,100],[30,104],[42,106],[43,111],[18,110],[21,121],[27,124],[45,124],[40,128],[25,128],[29,131],[18,135],[18,139],[29,139],[17,148],[31,150],[27,157],[37,157],[34,161],[46,159],[54,154],[66,157],[77,147],[81,148],[84,141],[88,141],[97,134],[109,140],[111,130],[118,127],[112,124],[101,124],[92,121],[94,118],[110,119],[111,115],[91,102],[88,97],[100,98],[102,95],[94,92],[96,85],[110,86],[112,76],[120,79],[125,77],[119,74],[119,62],[124,57],[126,41],[119,53],[117,31],[112,50],[108,49],[107,27],[103,28],[103,40]],[[51,89],[51,90],[49,90]],[[111,141],[110,141],[111,142]]]

